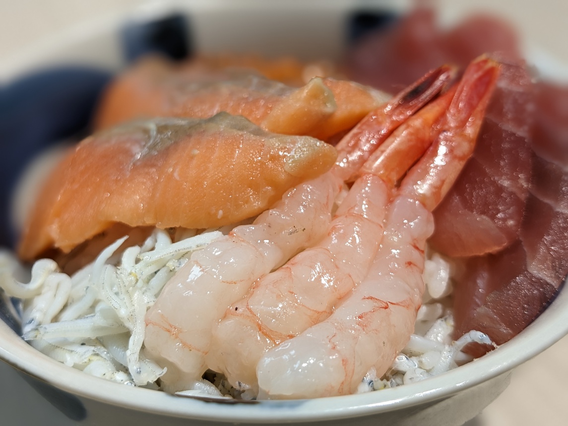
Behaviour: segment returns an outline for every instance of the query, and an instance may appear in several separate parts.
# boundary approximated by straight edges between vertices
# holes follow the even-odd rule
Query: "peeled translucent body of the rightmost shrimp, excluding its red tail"
[[[327,320],[270,349],[258,362],[259,398],[352,394],[371,366],[386,371],[406,345],[424,290],[421,247],[433,232],[432,218],[420,203],[398,198],[386,222],[366,279]]]

